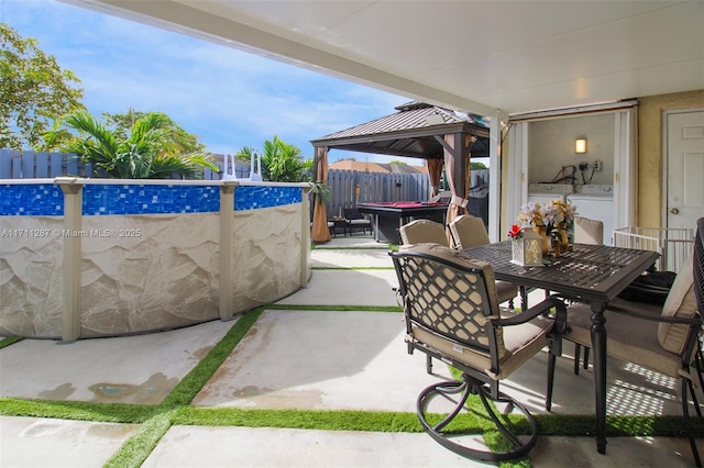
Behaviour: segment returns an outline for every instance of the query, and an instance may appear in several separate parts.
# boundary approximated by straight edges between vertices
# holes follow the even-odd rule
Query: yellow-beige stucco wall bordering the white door
[[[704,89],[639,98],[638,225],[662,227],[662,112],[704,109]]]

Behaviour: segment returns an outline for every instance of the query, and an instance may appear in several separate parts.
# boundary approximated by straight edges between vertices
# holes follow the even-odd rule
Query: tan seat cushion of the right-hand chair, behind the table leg
[[[658,317],[662,309],[657,304],[629,302],[620,299],[612,302],[623,309],[641,315]],[[670,377],[680,378],[682,359],[675,353],[663,348],[658,339],[658,322],[606,311],[606,349],[609,356],[639,366],[648,367]],[[586,304],[568,308],[569,335],[565,338],[584,346],[592,346],[592,309]]]

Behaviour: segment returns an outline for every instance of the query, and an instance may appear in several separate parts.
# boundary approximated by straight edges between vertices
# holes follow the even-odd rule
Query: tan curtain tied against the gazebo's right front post
[[[463,138],[463,136],[465,136],[465,138]],[[450,192],[452,193],[452,199],[450,200],[450,205],[448,207],[448,213],[444,220],[446,226],[448,226],[455,218],[468,213],[466,204],[469,202],[468,197],[470,194],[470,187],[468,183],[470,157],[466,149],[469,145],[464,140],[471,138],[471,136],[464,133],[452,133],[446,134],[443,138],[447,143],[444,149],[444,167],[448,174]],[[450,229],[447,227],[446,232],[448,241],[451,243],[452,234],[450,233]]]

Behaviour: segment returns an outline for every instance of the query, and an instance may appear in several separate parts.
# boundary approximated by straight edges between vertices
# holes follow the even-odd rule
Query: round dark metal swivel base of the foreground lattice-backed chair
[[[536,422],[536,419],[528,412],[528,410],[526,410],[526,408],[524,408],[520,403],[512,400],[506,394],[499,392],[497,399],[492,399],[483,382],[468,375],[462,376],[462,378],[464,379],[464,381],[462,382],[447,381],[433,383],[432,386],[426,388],[418,395],[418,420],[420,421],[420,424],[422,425],[426,433],[428,433],[428,435],[430,435],[433,441],[442,445],[444,448],[466,458],[483,461],[502,461],[527,455],[528,452],[530,452],[536,445],[536,442],[538,439],[538,423]],[[462,436],[462,434],[458,433],[457,430],[443,432],[443,428],[448,426],[465,406],[469,395],[473,393],[479,394],[487,415],[494,422],[496,428],[513,445],[512,449],[506,452],[491,452],[488,449],[481,450],[477,448],[470,448],[452,441],[453,438],[457,439],[458,437]],[[442,411],[429,411],[428,406],[436,398],[441,398],[441,401],[444,402],[450,401],[452,404],[454,404],[454,406],[450,411],[447,411],[444,409]],[[520,441],[516,435],[510,433],[509,428],[502,422],[499,415],[497,415],[495,409],[492,404],[488,403],[487,399],[497,401],[499,403],[507,403],[525,415],[531,427],[530,434],[527,435],[527,439],[526,437],[524,437],[525,442]],[[437,424],[430,424],[426,419],[426,414],[428,413],[432,413],[433,415],[437,413],[448,413],[448,416]]]

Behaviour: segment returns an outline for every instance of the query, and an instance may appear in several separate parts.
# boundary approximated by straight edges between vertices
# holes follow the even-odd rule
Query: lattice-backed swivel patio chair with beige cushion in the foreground
[[[438,244],[417,244],[389,255],[404,300],[408,353],[417,349],[462,372],[461,381],[435,383],[420,392],[417,413],[424,430],[443,447],[468,458],[497,461],[526,455],[536,445],[536,420],[499,391],[499,381],[549,346],[546,408],[550,409],[564,303],[548,298],[520,314],[502,312],[488,264]],[[554,319],[546,317],[553,309]],[[488,417],[510,442],[510,449],[492,452],[476,446],[464,442],[466,434],[452,428],[471,394],[479,395]],[[516,409],[522,413],[529,434],[513,434],[512,424],[503,421],[488,400],[505,404],[506,412]],[[449,409],[438,410],[448,404]],[[443,414],[441,421],[438,413]]]

